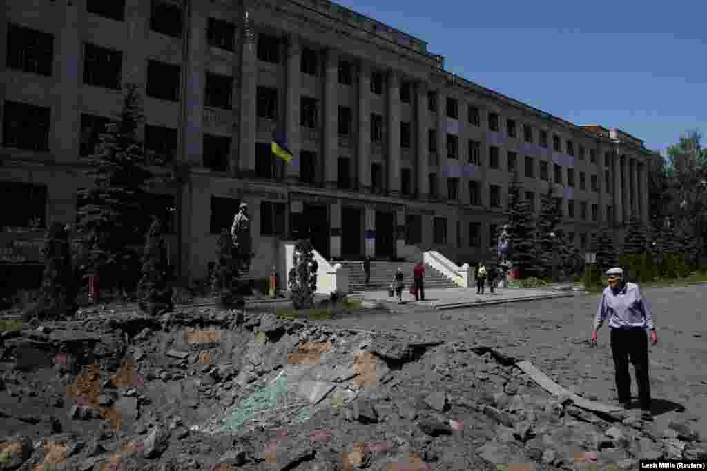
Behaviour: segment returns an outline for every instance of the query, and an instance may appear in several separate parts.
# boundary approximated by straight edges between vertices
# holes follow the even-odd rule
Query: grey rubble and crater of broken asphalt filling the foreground
[[[212,308],[0,339],[0,470],[621,470],[707,455],[687,422],[595,415],[459,342]]]

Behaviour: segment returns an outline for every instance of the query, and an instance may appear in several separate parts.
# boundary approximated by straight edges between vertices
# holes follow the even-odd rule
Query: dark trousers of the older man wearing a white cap
[[[619,401],[631,400],[631,376],[629,359],[636,369],[638,400],[641,409],[650,410],[650,381],[648,381],[648,336],[645,330],[611,330],[614,375]]]

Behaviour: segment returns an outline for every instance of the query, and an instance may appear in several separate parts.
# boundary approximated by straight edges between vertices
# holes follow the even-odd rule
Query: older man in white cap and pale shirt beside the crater
[[[631,406],[631,376],[629,359],[636,369],[638,400],[642,417],[653,420],[650,412],[650,381],[648,380],[648,340],[645,330],[650,330],[650,340],[655,345],[658,333],[653,325],[653,314],[648,300],[643,297],[635,283],[624,281],[624,270],[609,268],[607,284],[597,308],[594,329],[590,337],[592,345],[597,344],[597,330],[609,317],[609,340],[614,356],[614,378],[617,385],[619,403],[628,409]]]

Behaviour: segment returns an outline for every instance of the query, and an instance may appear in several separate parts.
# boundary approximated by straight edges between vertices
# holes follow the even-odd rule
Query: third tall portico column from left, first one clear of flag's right
[[[325,186],[337,186],[337,164],[339,158],[339,101],[337,90],[339,83],[339,53],[327,50],[324,84],[324,165]]]

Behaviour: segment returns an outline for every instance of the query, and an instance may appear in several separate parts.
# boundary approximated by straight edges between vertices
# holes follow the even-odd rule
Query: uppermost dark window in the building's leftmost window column
[[[8,23],[5,64],[18,71],[52,76],[54,36]]]

